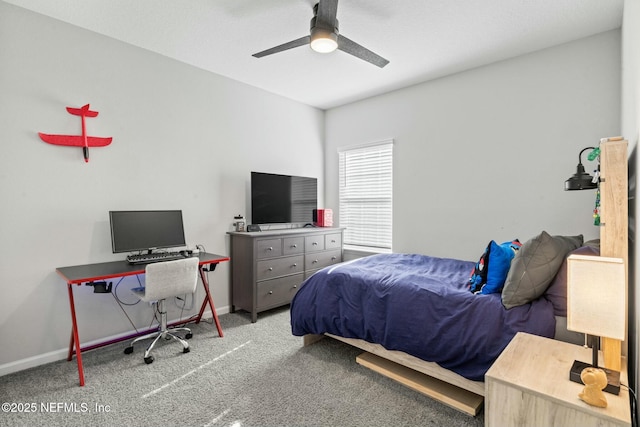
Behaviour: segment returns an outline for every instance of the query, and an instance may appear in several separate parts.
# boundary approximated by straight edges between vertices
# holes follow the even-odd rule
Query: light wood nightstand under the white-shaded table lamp
[[[485,426],[630,426],[629,391],[605,393],[597,408],[569,380],[574,360],[589,362],[591,349],[519,332],[485,375]],[[626,361],[620,382],[628,385]]]

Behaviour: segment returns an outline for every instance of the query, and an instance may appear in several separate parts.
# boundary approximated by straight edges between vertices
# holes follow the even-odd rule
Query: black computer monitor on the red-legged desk
[[[113,253],[186,246],[182,211],[109,211]]]

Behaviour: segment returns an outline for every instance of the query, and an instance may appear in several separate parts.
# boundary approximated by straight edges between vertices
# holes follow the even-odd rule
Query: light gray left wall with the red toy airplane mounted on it
[[[250,171],[315,176],[324,194],[321,110],[4,2],[0,64],[0,374],[65,357],[69,303],[55,268],[123,258],[111,253],[109,210],[182,209],[191,246],[228,254],[234,215],[250,213]],[[113,137],[88,164],[37,135],[80,134],[65,107],[86,103],[100,112],[88,133]],[[228,263],[210,280],[224,313]],[[118,288],[124,302],[134,286]],[[132,329],[110,295],[91,292],[75,288],[83,342]],[[138,328],[153,316],[126,310]]]

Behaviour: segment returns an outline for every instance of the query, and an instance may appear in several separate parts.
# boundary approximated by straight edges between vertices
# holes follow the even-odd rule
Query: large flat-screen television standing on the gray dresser
[[[251,172],[253,224],[311,224],[317,207],[317,178]]]

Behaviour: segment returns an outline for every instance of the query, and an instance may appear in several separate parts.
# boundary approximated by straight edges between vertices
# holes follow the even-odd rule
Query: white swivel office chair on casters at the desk
[[[138,341],[155,338],[147,350],[144,352],[144,361],[149,364],[154,358],[150,354],[153,347],[160,338],[173,338],[182,344],[182,352],[189,353],[189,343],[173,332],[185,331],[185,338],[193,336],[189,328],[167,328],[167,310],[165,299],[184,294],[192,294],[196,290],[198,283],[198,258],[185,258],[175,261],[164,261],[148,264],[145,268],[145,286],[132,291],[142,301],[156,302],[157,310],[160,313],[160,324],[158,330],[150,334],[138,337],[131,341],[129,347],[124,349],[125,354],[133,353],[133,345]]]

